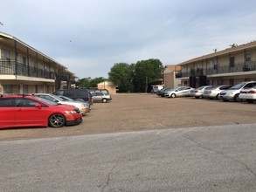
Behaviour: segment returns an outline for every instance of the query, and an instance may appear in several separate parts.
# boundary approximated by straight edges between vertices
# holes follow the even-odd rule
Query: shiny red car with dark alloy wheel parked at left
[[[0,96],[0,128],[9,127],[63,127],[82,121],[75,106],[31,95]]]

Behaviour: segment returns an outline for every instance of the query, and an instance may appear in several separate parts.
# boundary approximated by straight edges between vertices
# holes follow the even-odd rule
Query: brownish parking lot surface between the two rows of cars
[[[108,103],[94,103],[79,126],[3,129],[0,140],[256,123],[256,103],[167,99],[143,93],[112,98]]]

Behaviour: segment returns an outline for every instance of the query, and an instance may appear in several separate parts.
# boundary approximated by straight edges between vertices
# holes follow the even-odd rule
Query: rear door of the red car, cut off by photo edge
[[[12,98],[0,99],[0,128],[14,126],[14,106]]]

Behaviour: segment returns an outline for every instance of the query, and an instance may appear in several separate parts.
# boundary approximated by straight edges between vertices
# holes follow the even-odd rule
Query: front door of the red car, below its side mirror
[[[45,123],[45,120],[47,120],[45,108],[36,107],[37,103],[38,101],[33,99],[15,99],[14,120],[17,126],[38,126]]]

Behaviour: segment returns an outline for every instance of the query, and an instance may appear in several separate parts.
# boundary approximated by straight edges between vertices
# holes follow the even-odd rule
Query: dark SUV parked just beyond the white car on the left
[[[89,92],[89,90],[80,88],[80,89],[63,89],[58,90],[55,93],[55,95],[64,95],[68,98],[75,99],[75,100],[85,100],[89,101],[90,104],[93,104],[92,94]]]

